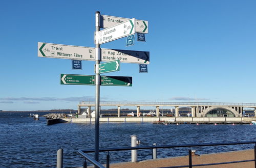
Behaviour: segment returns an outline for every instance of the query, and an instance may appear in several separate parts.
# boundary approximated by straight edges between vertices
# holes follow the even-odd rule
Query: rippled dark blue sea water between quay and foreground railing
[[[78,149],[94,149],[93,123],[46,125],[29,113],[0,113],[0,167],[56,167],[63,149],[63,166],[82,166]],[[37,113],[42,116],[46,113]],[[253,125],[153,125],[152,123],[101,123],[100,148],[129,147],[136,134],[140,146],[256,141]],[[198,154],[253,148],[253,145],[193,148]],[[187,148],[158,150],[158,158],[187,155]],[[106,153],[100,153],[101,163]],[[92,154],[93,156],[93,154]],[[138,160],[151,159],[151,150],[139,150]],[[110,152],[111,163],[131,161],[131,151]]]

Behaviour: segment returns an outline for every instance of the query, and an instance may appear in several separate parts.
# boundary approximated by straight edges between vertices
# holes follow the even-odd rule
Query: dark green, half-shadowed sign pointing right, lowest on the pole
[[[132,87],[133,78],[130,76],[101,76],[101,85]]]

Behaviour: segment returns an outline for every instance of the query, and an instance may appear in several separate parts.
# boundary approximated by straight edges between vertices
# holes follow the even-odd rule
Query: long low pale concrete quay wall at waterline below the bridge
[[[153,122],[153,121],[176,121],[176,122],[250,122],[256,118],[248,117],[105,117],[100,122]],[[62,118],[59,122],[95,122],[95,118]]]

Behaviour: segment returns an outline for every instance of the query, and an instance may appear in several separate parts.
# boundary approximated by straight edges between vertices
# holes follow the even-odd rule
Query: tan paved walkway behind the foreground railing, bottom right
[[[192,164],[205,164],[205,163],[217,163],[217,162],[227,162],[227,161],[239,161],[239,160],[250,160],[254,159],[254,150],[242,150],[234,152],[223,152],[214,154],[203,154],[200,156],[192,157]],[[131,168],[131,167],[167,167],[167,166],[178,166],[178,165],[188,165],[188,156],[181,157],[171,157],[171,158],[159,158],[144,160],[137,163],[132,162],[122,162],[113,163],[110,167],[118,168]],[[242,162],[242,163],[231,163],[231,164],[219,164],[219,165],[208,165],[208,166],[197,166],[197,167],[254,167],[254,162]]]

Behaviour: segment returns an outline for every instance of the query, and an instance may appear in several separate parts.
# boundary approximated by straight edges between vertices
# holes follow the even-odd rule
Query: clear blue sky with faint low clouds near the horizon
[[[121,64],[105,75],[133,87],[100,87],[101,101],[256,103],[256,1],[3,1],[0,6],[2,110],[77,109],[95,86],[60,85],[60,74],[94,74],[93,61],[37,57],[37,42],[94,47],[95,11],[148,21],[146,42],[102,48],[150,51],[148,73]]]

